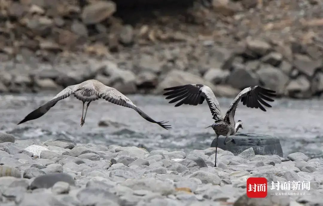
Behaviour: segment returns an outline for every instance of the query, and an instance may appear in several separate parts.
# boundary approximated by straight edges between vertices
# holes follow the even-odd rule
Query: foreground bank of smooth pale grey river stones
[[[35,143],[6,134],[0,141],[3,206],[299,206],[321,204],[323,193],[323,161],[300,152],[281,158],[255,155],[252,148],[237,156],[219,149],[214,168],[215,148],[148,152],[67,139]],[[249,177],[267,179],[266,199],[246,197]],[[271,182],[287,181],[310,184],[271,188]]]

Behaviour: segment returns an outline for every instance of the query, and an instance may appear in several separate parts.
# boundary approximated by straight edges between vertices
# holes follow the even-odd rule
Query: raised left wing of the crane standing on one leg
[[[207,104],[211,110],[213,118],[215,120],[221,120],[221,110],[218,100],[216,99],[213,91],[208,86],[202,84],[187,84],[177,87],[165,88],[166,99],[172,99],[168,103],[174,103],[179,100],[175,107],[181,106],[182,104],[198,105],[202,104],[206,99]]]

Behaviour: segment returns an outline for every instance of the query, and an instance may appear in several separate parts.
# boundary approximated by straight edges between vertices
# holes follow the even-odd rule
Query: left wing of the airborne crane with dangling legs
[[[34,111],[30,112],[23,120],[21,120],[18,124],[24,123],[29,120],[33,120],[36,118],[40,118],[43,116],[48,110],[53,107],[59,100],[65,99],[69,97],[73,92],[80,89],[80,84],[77,85],[71,85],[63,89],[61,92],[59,92],[54,98],[49,100],[46,104],[43,106],[35,109]]]

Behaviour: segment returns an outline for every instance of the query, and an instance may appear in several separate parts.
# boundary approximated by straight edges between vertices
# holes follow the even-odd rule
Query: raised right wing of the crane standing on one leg
[[[224,120],[234,124],[234,114],[240,100],[243,102],[243,105],[246,105],[249,108],[260,108],[261,110],[266,111],[263,105],[266,107],[271,107],[271,105],[269,105],[266,101],[273,102],[274,99],[269,97],[275,97],[275,93],[276,91],[265,89],[260,86],[245,88],[232,101],[225,114]]]

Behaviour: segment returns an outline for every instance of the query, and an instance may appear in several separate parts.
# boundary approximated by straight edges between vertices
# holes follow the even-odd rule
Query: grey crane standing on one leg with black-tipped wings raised
[[[273,102],[274,100],[269,97],[275,97],[276,93],[273,90],[262,88],[260,86],[248,87],[243,89],[232,101],[229,109],[226,111],[225,115],[221,114],[220,105],[216,99],[213,91],[208,86],[202,84],[187,84],[177,87],[165,88],[168,91],[164,93],[166,99],[172,99],[169,103],[178,102],[175,107],[181,106],[182,104],[188,105],[198,105],[202,104],[204,99],[206,99],[207,104],[211,110],[213,116],[214,124],[210,125],[215,131],[216,143],[215,143],[215,165],[216,167],[216,153],[218,146],[218,138],[220,135],[225,136],[224,144],[226,144],[226,138],[230,135],[234,135],[239,128],[242,128],[242,121],[238,120],[234,122],[235,110],[241,100],[243,105],[249,108],[260,108],[263,111],[266,109],[263,107],[271,107],[266,101]],[[263,105],[262,105],[263,104]],[[207,127],[208,128],[208,127]],[[230,141],[234,142],[234,139]]]

